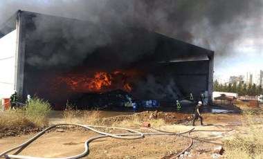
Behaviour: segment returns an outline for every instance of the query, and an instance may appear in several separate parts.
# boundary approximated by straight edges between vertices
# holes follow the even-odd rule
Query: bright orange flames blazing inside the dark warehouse
[[[55,88],[66,87],[71,92],[111,91],[121,88],[131,91],[130,77],[134,72],[114,71],[113,73],[96,72],[92,76],[69,74],[55,79]]]

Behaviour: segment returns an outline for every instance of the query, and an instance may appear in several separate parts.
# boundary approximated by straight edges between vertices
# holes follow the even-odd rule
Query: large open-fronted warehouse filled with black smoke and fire
[[[212,102],[214,53],[142,28],[17,11],[0,26],[1,97],[17,91],[55,105],[80,93],[124,91]]]

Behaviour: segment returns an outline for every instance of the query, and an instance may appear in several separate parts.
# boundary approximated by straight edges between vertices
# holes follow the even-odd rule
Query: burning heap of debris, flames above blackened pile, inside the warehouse
[[[71,71],[54,78],[53,92],[61,96],[64,90],[71,104],[78,109],[112,106],[155,108],[157,100],[174,100],[179,95],[173,82],[160,82],[161,79],[138,70]]]

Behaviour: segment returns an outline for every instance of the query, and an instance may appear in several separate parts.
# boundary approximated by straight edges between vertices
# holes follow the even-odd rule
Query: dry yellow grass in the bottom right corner
[[[242,124],[246,128],[246,133],[238,133],[235,138],[225,140],[226,156],[237,159],[259,159],[263,158],[263,114],[257,113],[249,107],[242,107]]]

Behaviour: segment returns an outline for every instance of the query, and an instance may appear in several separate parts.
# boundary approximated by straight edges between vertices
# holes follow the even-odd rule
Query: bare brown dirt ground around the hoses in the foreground
[[[242,124],[244,116],[237,113],[203,113],[204,126],[199,120],[192,127],[192,114],[163,113],[145,111],[135,114],[140,118],[163,118],[167,125],[156,127],[141,127],[133,125],[125,127],[140,131],[141,133],[172,132],[180,133],[193,131],[182,135],[145,135],[144,138],[125,140],[117,138],[100,138],[89,143],[89,154],[83,158],[175,158],[184,149],[187,149],[194,138],[192,146],[179,158],[226,158],[223,155],[215,155],[214,149],[219,147],[223,140],[233,138],[236,133],[246,133],[246,127]],[[133,115],[120,115],[109,120],[124,120]],[[153,129],[152,129],[153,128]],[[29,140],[40,129],[15,128],[6,129],[0,133],[0,153]],[[27,131],[28,129],[28,131]],[[23,131],[24,130],[24,131]],[[98,129],[107,133],[130,133],[118,129]],[[8,134],[8,135],[7,135]],[[84,151],[84,142],[89,138],[100,134],[82,127],[56,127],[29,144],[19,155],[44,158],[65,158],[75,156]],[[189,138],[188,135],[191,137]],[[130,137],[131,138],[131,137]],[[206,141],[206,142],[204,142]],[[215,143],[210,143],[215,142]],[[13,154],[12,151],[8,154]]]

